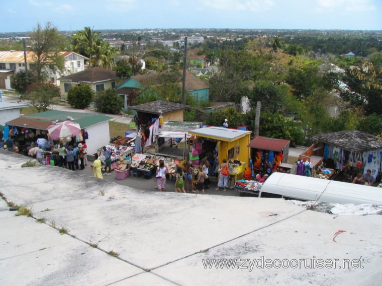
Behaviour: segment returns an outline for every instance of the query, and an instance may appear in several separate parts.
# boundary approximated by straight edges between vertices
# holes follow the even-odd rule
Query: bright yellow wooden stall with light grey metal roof
[[[239,160],[240,166],[235,170],[230,170],[230,185],[235,184],[235,181],[243,177],[244,167],[249,165],[250,148],[248,144],[251,141],[251,132],[228,129],[221,127],[204,127],[189,131],[190,135],[195,136],[195,139],[201,138],[203,148],[205,146],[217,146],[219,163],[223,159],[227,161]],[[208,150],[207,150],[208,151]]]

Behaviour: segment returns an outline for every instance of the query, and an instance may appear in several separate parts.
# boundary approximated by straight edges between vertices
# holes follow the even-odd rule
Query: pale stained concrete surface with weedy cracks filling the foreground
[[[282,199],[148,192],[57,166],[21,168],[26,160],[0,151],[2,195],[33,213],[14,216],[0,201],[1,286],[382,284],[378,215],[322,214]],[[260,261],[251,270],[262,256],[341,265],[361,257],[363,268],[266,268]],[[209,268],[206,259],[239,265]]]

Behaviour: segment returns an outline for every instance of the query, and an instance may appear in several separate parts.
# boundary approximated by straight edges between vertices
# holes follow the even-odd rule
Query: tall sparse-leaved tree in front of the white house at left
[[[65,70],[61,52],[66,47],[66,39],[51,22],[46,22],[45,27],[38,23],[30,37],[32,41],[31,51],[34,52],[34,69],[39,80],[45,79],[45,68],[52,71]]]

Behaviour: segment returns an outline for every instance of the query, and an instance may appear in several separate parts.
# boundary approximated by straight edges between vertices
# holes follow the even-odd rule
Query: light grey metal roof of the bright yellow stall
[[[251,134],[251,131],[243,131],[222,127],[204,127],[191,130],[189,131],[189,134],[220,141],[231,142],[247,134]]]

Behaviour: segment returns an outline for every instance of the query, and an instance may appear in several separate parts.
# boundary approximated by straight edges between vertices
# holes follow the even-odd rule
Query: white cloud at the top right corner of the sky
[[[372,11],[376,9],[376,6],[371,0],[318,0],[318,5],[321,8],[341,8],[345,11]]]

